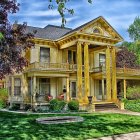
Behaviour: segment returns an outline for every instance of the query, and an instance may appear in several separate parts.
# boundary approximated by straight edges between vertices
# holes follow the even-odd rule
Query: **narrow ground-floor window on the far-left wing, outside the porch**
[[[21,79],[14,79],[14,95],[21,95]]]

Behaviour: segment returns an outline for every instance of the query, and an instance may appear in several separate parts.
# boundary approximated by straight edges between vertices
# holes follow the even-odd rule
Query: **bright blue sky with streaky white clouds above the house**
[[[48,24],[61,25],[57,10],[48,9],[48,0],[18,0],[20,10],[10,15],[11,22],[27,22],[30,26],[45,27]],[[66,27],[76,28],[98,16],[103,16],[127,41],[127,29],[136,16],[140,16],[140,0],[70,0],[69,8],[75,10],[73,16],[66,15]]]

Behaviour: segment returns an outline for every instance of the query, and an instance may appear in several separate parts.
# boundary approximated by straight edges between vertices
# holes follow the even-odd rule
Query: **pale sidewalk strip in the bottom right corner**
[[[109,137],[102,137],[102,138],[88,139],[88,140],[140,140],[140,132],[114,135]]]

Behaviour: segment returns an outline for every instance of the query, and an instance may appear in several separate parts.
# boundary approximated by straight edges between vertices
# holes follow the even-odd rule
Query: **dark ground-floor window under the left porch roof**
[[[50,95],[50,79],[49,78],[40,78],[40,95]]]

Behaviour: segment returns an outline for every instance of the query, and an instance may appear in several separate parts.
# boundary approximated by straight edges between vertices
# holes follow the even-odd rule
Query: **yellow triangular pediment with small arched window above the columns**
[[[100,35],[120,41],[123,40],[123,38],[117,33],[117,31],[103,17],[98,17],[82,25],[78,32],[90,35]]]

